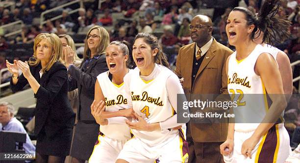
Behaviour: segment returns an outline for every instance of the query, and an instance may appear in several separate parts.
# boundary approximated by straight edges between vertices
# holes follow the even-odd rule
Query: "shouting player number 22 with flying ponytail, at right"
[[[266,96],[254,102],[239,99],[238,109],[244,112],[238,116],[261,123],[229,124],[227,140],[220,146],[226,163],[283,163],[290,153],[289,135],[283,123],[276,122],[287,105],[280,72],[270,50],[253,41],[258,28],[264,34],[262,42],[271,45],[288,36],[282,34],[288,22],[275,16],[279,6],[280,0],[265,0],[257,17],[243,7],[235,7],[228,16],[228,41],[236,47],[226,63],[228,92],[232,97],[268,93],[273,103],[268,108]]]

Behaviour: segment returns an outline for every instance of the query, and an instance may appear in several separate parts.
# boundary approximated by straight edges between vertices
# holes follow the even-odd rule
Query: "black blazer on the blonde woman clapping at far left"
[[[72,128],[75,122],[75,113],[68,100],[68,74],[67,68],[60,62],[55,62],[49,71],[40,78],[41,63],[30,66],[30,72],[40,83],[40,88],[34,95],[37,99],[35,108],[34,133],[39,134],[44,130],[47,136]],[[12,79],[11,79],[12,80]],[[23,74],[16,85],[10,82],[13,92],[22,90],[28,83]]]

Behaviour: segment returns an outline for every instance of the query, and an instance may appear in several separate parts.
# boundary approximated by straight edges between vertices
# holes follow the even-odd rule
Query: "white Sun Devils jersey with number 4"
[[[168,99],[168,92],[166,88],[166,81],[168,77],[175,74],[164,66],[156,66],[158,66],[161,71],[153,80],[142,80],[139,75],[139,70],[133,71],[129,77],[129,90],[131,92],[133,109],[148,123],[165,121],[175,114],[175,111]],[[133,122],[135,122],[135,120],[133,120]],[[183,130],[184,129],[185,128],[183,127]],[[178,130],[173,131],[171,129],[165,129],[153,132],[132,130],[132,133],[145,144],[155,146],[166,142],[166,140],[172,136],[176,136],[178,134]]]

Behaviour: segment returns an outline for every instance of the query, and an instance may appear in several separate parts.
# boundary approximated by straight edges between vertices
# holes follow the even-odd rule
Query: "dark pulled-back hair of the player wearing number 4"
[[[167,57],[165,54],[163,54],[162,52],[162,48],[161,48],[161,45],[160,43],[158,42],[158,39],[156,36],[154,36],[153,34],[151,33],[138,33],[135,38],[134,38],[134,41],[138,38],[143,38],[144,41],[150,45],[151,49],[155,49],[157,48],[158,49],[158,52],[157,54],[154,56],[154,62],[157,63],[157,64],[161,64],[165,67],[169,67],[169,62],[167,60]]]

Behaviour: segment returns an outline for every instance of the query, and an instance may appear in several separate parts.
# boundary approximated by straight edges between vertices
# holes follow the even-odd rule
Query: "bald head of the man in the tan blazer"
[[[191,21],[190,30],[193,42],[202,47],[211,39],[211,19],[205,15],[196,15]]]

